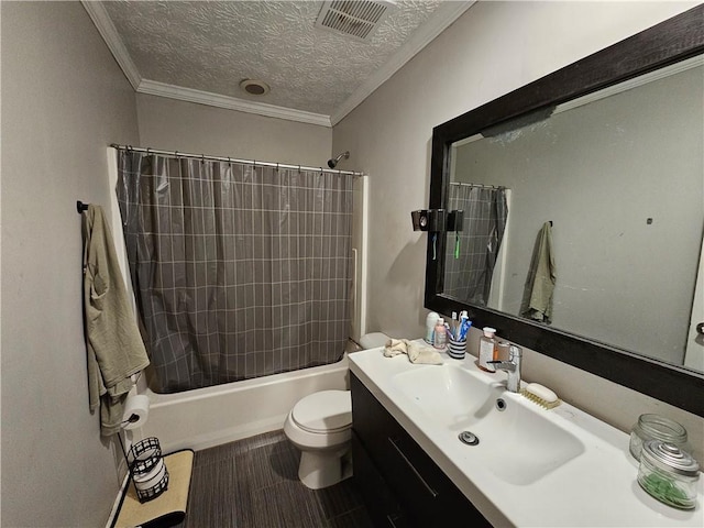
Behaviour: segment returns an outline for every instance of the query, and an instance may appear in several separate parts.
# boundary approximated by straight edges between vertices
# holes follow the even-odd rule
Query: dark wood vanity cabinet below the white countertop
[[[354,479],[378,527],[491,526],[351,374]]]

